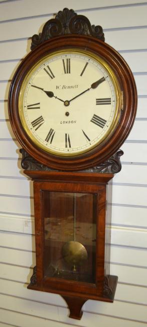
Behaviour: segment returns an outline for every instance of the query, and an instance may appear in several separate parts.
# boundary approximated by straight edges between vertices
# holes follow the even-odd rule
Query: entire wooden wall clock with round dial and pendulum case
[[[110,202],[136,87],[100,26],[64,9],[32,37],[9,93],[22,167],[34,181],[36,267],[28,286],[61,294],[70,316],[87,299],[113,301]]]

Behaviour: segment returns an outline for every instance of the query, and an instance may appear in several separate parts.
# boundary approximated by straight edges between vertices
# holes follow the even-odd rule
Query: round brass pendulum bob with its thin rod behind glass
[[[74,194],[74,240],[68,241],[64,244],[62,248],[62,256],[64,260],[72,266],[72,271],[77,271],[77,266],[82,266],[82,264],[87,261],[88,254],[82,243],[76,241],[76,194]]]

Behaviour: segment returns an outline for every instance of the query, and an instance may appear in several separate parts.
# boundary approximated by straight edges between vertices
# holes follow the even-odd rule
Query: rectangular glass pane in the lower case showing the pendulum
[[[43,191],[44,276],[95,283],[97,194]]]

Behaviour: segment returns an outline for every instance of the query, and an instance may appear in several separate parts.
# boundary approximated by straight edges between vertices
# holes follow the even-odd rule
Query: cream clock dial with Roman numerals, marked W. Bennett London
[[[110,68],[67,50],[44,58],[22,85],[19,114],[35,144],[57,155],[86,152],[118,121],[118,86]]]

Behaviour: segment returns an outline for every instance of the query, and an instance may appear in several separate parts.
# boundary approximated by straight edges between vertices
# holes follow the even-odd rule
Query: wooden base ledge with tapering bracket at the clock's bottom
[[[70,314],[69,317],[73,319],[81,319],[83,311],[82,306],[87,300],[97,300],[97,301],[104,301],[104,302],[113,302],[115,290],[117,286],[117,276],[110,275],[109,277],[106,277],[106,281],[104,282],[104,289],[102,295],[90,295],[90,294],[76,294],[75,296],[72,293],[72,296],[70,295],[69,291],[58,291],[58,294],[60,294],[64,300],[66,301]],[[38,286],[37,284],[30,283],[28,285],[29,289],[37,290],[37,291],[44,291],[44,292],[50,292],[50,293],[56,293],[57,290],[45,288],[42,286]]]

